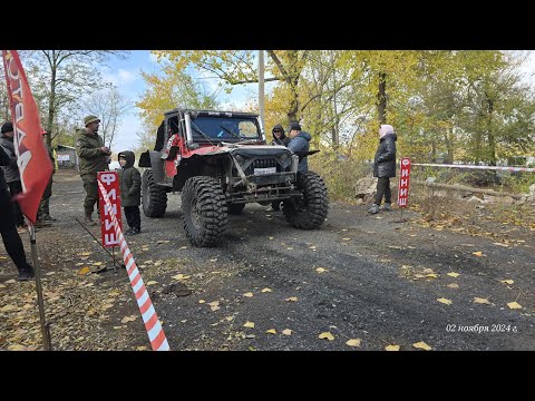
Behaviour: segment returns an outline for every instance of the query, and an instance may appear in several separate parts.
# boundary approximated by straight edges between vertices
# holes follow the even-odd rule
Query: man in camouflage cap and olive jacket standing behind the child
[[[97,204],[98,212],[97,172],[109,169],[108,156],[111,155],[111,150],[104,146],[104,139],[98,135],[99,123],[100,119],[97,116],[91,115],[84,118],[86,128],[78,129],[76,139],[76,153],[80,158],[80,177],[84,182],[84,189],[86,189],[84,223],[87,225],[97,225],[91,218],[95,204]]]

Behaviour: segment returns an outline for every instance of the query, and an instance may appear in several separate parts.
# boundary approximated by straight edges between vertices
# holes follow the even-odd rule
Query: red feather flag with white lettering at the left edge
[[[50,177],[52,163],[42,143],[42,126],[17,50],[2,50],[6,84],[14,130],[14,153],[22,193],[17,195],[22,214],[33,224]]]

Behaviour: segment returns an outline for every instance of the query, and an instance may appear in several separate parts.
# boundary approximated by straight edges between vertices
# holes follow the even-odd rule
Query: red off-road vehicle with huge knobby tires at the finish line
[[[194,246],[215,246],[228,213],[245,204],[282,202],[296,228],[323,224],[329,204],[323,179],[298,174],[300,157],[266,145],[259,116],[250,113],[174,109],[165,113],[155,150],[142,154],[142,203],[147,217],[162,217],[167,193],[182,193],[184,229]]]

